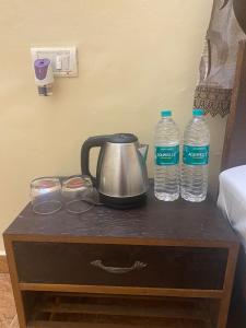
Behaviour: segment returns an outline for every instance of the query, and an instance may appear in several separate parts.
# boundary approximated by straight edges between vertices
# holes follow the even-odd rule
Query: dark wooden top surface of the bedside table
[[[229,221],[214,201],[191,203],[178,199],[164,202],[155,199],[152,187],[147,204],[131,210],[96,206],[77,215],[65,209],[55,214],[38,215],[27,204],[4,232],[5,237],[10,235],[28,239],[84,238],[89,243],[237,243]]]

